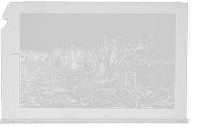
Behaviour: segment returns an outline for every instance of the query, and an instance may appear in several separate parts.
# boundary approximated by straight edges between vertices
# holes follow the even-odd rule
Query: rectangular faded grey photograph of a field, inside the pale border
[[[173,111],[180,105],[180,16],[174,10],[159,12],[158,4],[157,12],[114,6],[109,12],[108,4],[106,12],[91,12],[90,5],[90,12],[58,12],[59,6],[48,6],[17,16],[19,47],[10,54],[19,66],[20,110]]]

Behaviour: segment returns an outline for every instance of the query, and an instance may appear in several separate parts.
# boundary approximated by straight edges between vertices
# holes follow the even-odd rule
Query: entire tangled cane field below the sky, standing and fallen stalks
[[[162,40],[106,32],[88,46],[20,50],[21,108],[175,108],[175,59]]]

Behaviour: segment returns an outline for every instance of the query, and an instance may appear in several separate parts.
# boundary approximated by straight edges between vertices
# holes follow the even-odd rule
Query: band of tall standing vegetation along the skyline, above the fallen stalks
[[[161,55],[159,52],[160,42],[161,40],[158,40],[155,35],[147,33],[138,34],[135,38],[128,38],[109,32],[103,34],[102,40],[85,47],[74,42],[70,46],[59,46],[53,43],[51,50],[20,50],[20,59],[22,61],[45,61],[53,64],[60,57],[62,66],[76,69],[80,67],[85,57],[91,68],[103,68],[108,73],[111,69],[116,69],[127,56],[134,54],[137,50],[142,49],[148,55]],[[151,61],[165,64],[175,62],[170,59],[152,59]]]

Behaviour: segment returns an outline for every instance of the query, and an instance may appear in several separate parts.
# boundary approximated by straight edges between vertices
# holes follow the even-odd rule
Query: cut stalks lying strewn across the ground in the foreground
[[[32,67],[34,69],[34,67]],[[91,74],[46,69],[21,80],[20,107],[61,108],[173,108],[174,89],[133,89],[120,80]],[[62,74],[61,74],[62,72]],[[36,74],[35,74],[36,75]],[[113,78],[114,79],[114,78]],[[29,81],[30,80],[30,81]]]

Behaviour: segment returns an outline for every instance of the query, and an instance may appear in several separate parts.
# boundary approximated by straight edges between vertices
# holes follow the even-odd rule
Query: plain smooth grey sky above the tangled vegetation
[[[151,31],[164,40],[164,58],[175,58],[175,14],[26,14],[20,15],[20,49],[50,49],[54,41],[87,46],[105,31],[128,37]]]

